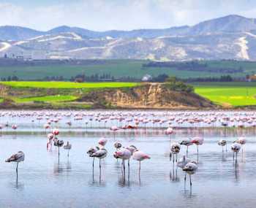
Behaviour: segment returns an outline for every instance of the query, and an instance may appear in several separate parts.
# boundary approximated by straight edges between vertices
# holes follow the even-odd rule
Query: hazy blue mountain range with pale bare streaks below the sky
[[[195,26],[133,31],[90,31],[59,26],[36,31],[0,26],[0,56],[77,59],[256,60],[256,19],[239,15]]]

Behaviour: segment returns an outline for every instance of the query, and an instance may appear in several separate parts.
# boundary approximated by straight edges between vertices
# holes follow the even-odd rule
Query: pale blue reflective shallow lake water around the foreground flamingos
[[[60,163],[55,147],[46,150],[45,121],[31,123],[31,118],[14,118],[16,131],[4,128],[0,137],[0,207],[254,207],[256,203],[256,128],[177,128],[171,140],[178,142],[191,136],[203,136],[205,142],[199,147],[197,172],[184,184],[184,172],[173,168],[169,160],[170,136],[165,128],[118,131],[115,135],[102,124],[92,123],[85,128],[82,122],[74,121],[70,128],[59,127],[59,139],[72,143],[69,158],[61,149]],[[71,120],[72,118],[70,118]],[[10,118],[1,118],[5,123]],[[115,123],[116,121],[113,121]],[[11,123],[11,122],[10,122]],[[113,125],[113,124],[111,124]],[[92,159],[86,155],[97,140],[108,139],[108,157],[102,161],[99,178],[99,161],[95,160],[94,177]],[[244,155],[238,154],[235,171],[230,145],[246,136]],[[217,145],[226,139],[227,152]],[[121,173],[121,161],[113,158],[113,142],[124,146],[135,145],[151,156],[142,161],[140,177],[138,162],[131,161],[128,178]],[[25,161],[18,166],[16,181],[15,164],[4,159],[18,150],[25,153]],[[181,148],[180,158],[186,153]],[[196,160],[196,147],[189,147],[189,158]]]

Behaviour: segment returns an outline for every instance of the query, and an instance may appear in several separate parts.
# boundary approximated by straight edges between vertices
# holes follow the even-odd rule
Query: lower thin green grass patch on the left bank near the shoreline
[[[75,96],[42,96],[42,97],[31,97],[31,98],[15,98],[13,99],[17,103],[25,103],[31,101],[42,101],[42,102],[64,102],[64,101],[74,101],[78,99]]]

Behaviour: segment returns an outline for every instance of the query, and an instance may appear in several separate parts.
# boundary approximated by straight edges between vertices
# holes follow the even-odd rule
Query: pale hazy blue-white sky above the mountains
[[[168,28],[230,14],[256,18],[256,0],[0,0],[0,26],[38,30]]]

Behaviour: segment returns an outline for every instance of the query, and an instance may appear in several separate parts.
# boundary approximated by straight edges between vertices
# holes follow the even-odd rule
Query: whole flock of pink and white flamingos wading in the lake
[[[84,126],[91,127],[96,123],[103,123],[104,128],[113,132],[113,146],[116,151],[112,154],[116,160],[121,160],[122,174],[126,173],[126,162],[129,172],[129,161],[133,159],[138,161],[139,177],[140,177],[140,163],[141,161],[150,159],[150,155],[139,150],[135,145],[129,145],[124,147],[121,142],[116,141],[116,131],[147,131],[150,128],[164,128],[165,134],[170,136],[170,161],[173,166],[181,168],[184,171],[184,181],[186,182],[187,174],[189,175],[190,187],[192,186],[192,174],[197,172],[199,161],[199,146],[203,145],[204,139],[201,136],[195,136],[188,139],[182,139],[180,142],[173,142],[172,135],[175,134],[177,128],[182,127],[218,127],[218,128],[246,128],[256,126],[256,113],[255,112],[0,112],[0,118],[5,119],[6,123],[0,126],[1,129],[12,128],[12,131],[17,131],[18,125],[11,121],[15,118],[27,118],[31,119],[31,123],[43,121],[45,122],[43,128],[48,131],[47,134],[47,150],[52,150],[55,146],[58,148],[58,155],[60,155],[60,148],[63,147],[67,150],[67,156],[69,157],[69,150],[72,149],[71,142],[66,142],[59,139],[59,128],[56,127],[61,120],[65,120],[65,125],[72,126],[73,122],[83,123]],[[116,125],[113,125],[116,124]],[[55,125],[55,126],[54,126]],[[102,128],[103,128],[102,126]],[[49,133],[50,132],[50,133]],[[106,150],[106,144],[108,139],[100,138],[95,147],[91,147],[87,150],[87,155],[92,158],[92,169],[94,169],[94,159],[99,160],[99,171],[101,170],[101,161],[107,157],[108,150]],[[240,150],[243,152],[243,145],[246,144],[245,137],[239,137],[231,145],[230,148],[233,151],[233,162],[237,166],[237,156]],[[189,146],[196,145],[197,147],[197,160],[191,160],[188,158]],[[222,147],[222,152],[227,151],[227,141],[221,139],[217,141],[217,145]],[[183,155],[178,158],[178,153],[181,151],[181,147],[186,148],[187,155]],[[18,151],[7,158],[6,162],[17,163],[16,174],[18,180],[18,163],[24,161],[25,154],[22,151]]]

